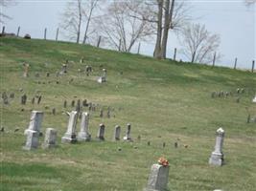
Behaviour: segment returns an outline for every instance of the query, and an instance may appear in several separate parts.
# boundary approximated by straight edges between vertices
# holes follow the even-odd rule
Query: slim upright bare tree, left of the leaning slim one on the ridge
[[[71,40],[80,42],[81,36],[82,7],[81,0],[72,0],[67,3],[64,12],[61,14],[59,27],[67,32],[66,36]]]

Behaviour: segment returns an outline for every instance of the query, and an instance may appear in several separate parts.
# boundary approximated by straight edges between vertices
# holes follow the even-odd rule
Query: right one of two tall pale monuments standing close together
[[[78,135],[78,139],[80,141],[89,141],[91,139],[91,135],[88,132],[89,129],[89,114],[87,112],[83,112],[81,114],[81,130]]]

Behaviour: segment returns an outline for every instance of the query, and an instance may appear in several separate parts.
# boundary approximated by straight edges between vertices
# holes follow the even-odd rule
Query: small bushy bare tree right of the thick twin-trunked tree
[[[180,33],[182,37],[182,52],[192,63],[209,63],[213,54],[216,53],[221,43],[218,34],[211,34],[204,25],[192,24],[187,26]],[[216,59],[220,58],[220,54]]]

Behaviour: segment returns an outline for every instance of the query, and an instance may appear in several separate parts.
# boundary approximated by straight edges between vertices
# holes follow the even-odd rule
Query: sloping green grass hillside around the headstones
[[[85,63],[80,63],[81,56]],[[65,59],[72,61],[68,74],[57,77]],[[22,76],[23,61],[31,66],[28,78]],[[93,67],[92,75],[78,73],[85,65]],[[96,78],[103,68],[107,82],[99,84]],[[170,162],[170,191],[255,190],[256,123],[246,120],[248,112],[256,117],[256,104],[251,102],[256,74],[72,43],[16,38],[0,38],[0,69],[0,92],[15,94],[9,105],[2,100],[0,105],[1,126],[5,127],[0,133],[1,191],[142,190],[151,164],[159,157]],[[46,77],[47,72],[50,77]],[[238,88],[244,88],[244,94],[236,94]],[[232,92],[233,96],[211,98],[214,91]],[[25,106],[20,104],[24,93],[28,96]],[[39,105],[31,103],[36,95],[42,95]],[[93,139],[61,144],[68,121],[63,113],[75,109],[70,106],[73,99],[85,98],[99,104],[97,111],[90,113],[89,130],[95,138],[99,124],[105,123],[105,142]],[[68,101],[67,108],[63,108],[64,100]],[[106,111],[108,106],[114,109],[112,117],[99,117],[99,109]],[[52,108],[57,109],[56,116]],[[32,110],[44,112],[43,133],[48,127],[58,130],[56,149],[22,150],[26,140],[23,132]],[[113,142],[114,126],[121,125],[124,136],[127,123],[131,123],[134,141]],[[225,130],[225,164],[214,167],[208,159],[219,127]],[[16,128],[18,132],[14,132]],[[179,146],[175,148],[177,138]],[[42,143],[43,138],[39,141]],[[189,147],[184,148],[184,144]]]

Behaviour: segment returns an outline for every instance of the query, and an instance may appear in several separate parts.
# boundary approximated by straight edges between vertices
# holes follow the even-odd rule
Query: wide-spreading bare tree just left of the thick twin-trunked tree
[[[113,1],[105,15],[97,19],[97,29],[109,45],[122,52],[130,52],[138,40],[147,40],[153,31],[151,25],[140,16],[138,8],[142,1]],[[136,16],[130,16],[132,13]]]

